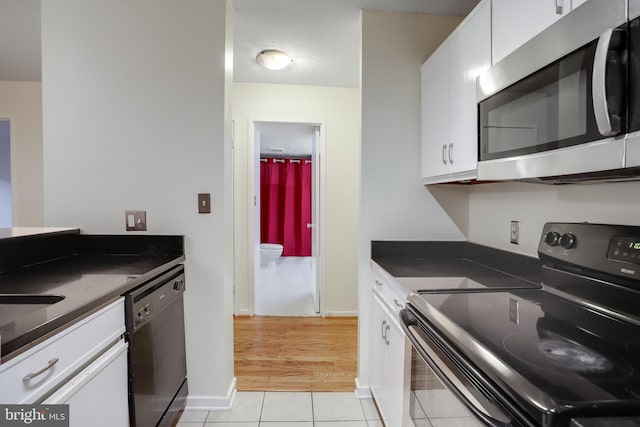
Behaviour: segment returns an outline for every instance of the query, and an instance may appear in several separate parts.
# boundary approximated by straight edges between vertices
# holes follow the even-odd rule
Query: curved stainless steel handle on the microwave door
[[[607,97],[607,63],[611,49],[611,41],[614,32],[606,29],[598,39],[596,54],[593,59],[593,113],[595,115],[598,131],[603,136],[614,136],[620,133],[620,116],[610,113],[609,99]]]

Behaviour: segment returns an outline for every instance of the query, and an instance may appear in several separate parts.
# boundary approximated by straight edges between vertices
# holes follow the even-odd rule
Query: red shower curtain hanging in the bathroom
[[[311,256],[311,162],[260,162],[260,241],[284,246],[283,256]]]

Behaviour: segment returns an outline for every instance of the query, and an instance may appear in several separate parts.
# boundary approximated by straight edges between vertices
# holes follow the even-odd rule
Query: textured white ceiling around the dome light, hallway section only
[[[478,0],[231,0],[234,81],[358,87],[360,10],[467,15]],[[294,60],[269,71],[255,60],[280,49]]]

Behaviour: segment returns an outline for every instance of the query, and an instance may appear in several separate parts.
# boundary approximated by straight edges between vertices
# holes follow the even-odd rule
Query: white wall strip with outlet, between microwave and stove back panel
[[[640,225],[640,182],[543,185],[521,182],[469,187],[469,241],[537,257],[545,222]],[[509,224],[520,221],[520,243]]]

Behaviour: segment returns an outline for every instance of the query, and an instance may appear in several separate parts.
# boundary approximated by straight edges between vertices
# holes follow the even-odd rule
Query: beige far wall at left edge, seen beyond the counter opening
[[[44,224],[42,190],[42,85],[0,81],[0,119],[11,122],[13,225]]]

